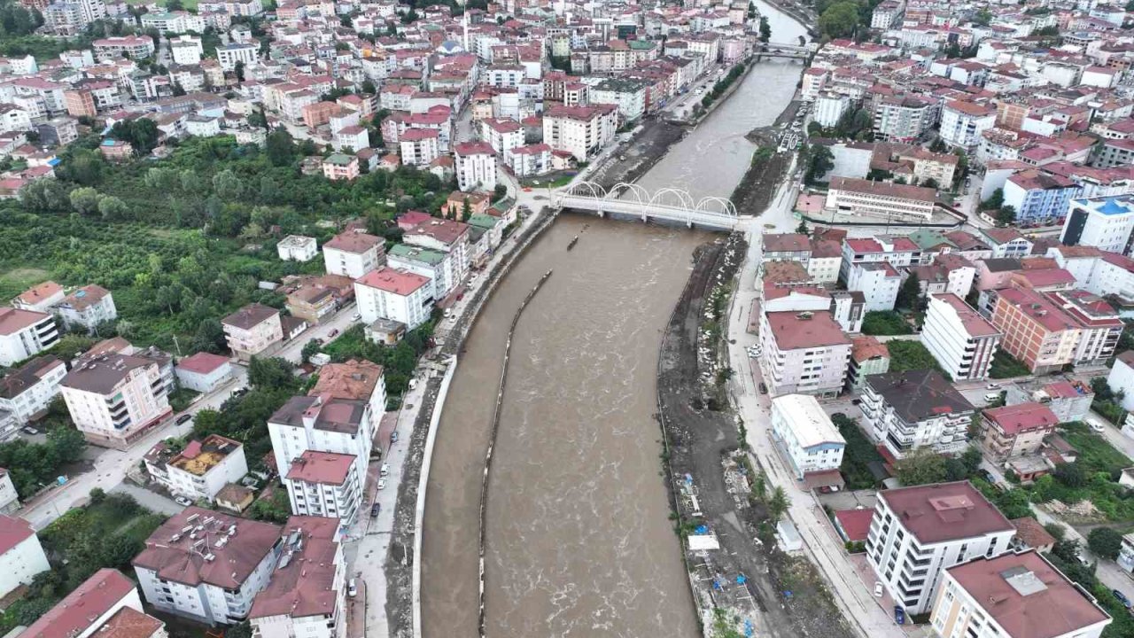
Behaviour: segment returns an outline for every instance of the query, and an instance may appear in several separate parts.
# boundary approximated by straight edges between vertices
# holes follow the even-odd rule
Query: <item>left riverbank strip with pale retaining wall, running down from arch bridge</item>
[[[550,212],[541,213],[530,226],[514,235],[513,247],[491,268],[484,284],[473,293],[473,299],[454,322],[454,328],[442,336],[443,341],[437,351],[426,355],[426,369],[437,371],[440,368],[445,369],[446,373],[433,375],[425,381],[425,393],[417,406],[414,428],[407,437],[407,457],[398,488],[390,551],[384,564],[386,618],[389,636],[421,636],[420,531],[425,502],[424,492],[429,480],[425,456],[432,453],[432,443],[445,402],[443,389],[452,379],[452,369],[457,364],[459,352],[481,309],[532,242],[555,221],[555,217]]]

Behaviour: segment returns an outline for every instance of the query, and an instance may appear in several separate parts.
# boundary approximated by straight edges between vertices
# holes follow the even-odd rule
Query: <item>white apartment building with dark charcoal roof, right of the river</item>
[[[975,413],[973,404],[937,370],[866,377],[860,408],[866,430],[896,459],[920,447],[962,452]]]

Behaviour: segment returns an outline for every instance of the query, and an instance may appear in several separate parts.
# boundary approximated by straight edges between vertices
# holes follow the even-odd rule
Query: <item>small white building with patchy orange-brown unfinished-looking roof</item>
[[[239,482],[247,473],[244,446],[215,434],[191,440],[166,464],[169,490],[191,501],[212,502],[222,487]]]

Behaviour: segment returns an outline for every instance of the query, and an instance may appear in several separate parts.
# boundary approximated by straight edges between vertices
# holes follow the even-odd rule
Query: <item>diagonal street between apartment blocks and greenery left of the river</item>
[[[341,331],[346,329],[350,324],[350,317],[354,312],[353,304],[339,310],[329,321],[308,328],[297,338],[285,344],[274,355],[287,359],[293,363],[298,363],[303,346],[308,339],[316,337],[325,339],[329,337],[331,330]],[[33,500],[20,510],[19,515],[28,520],[35,529],[43,529],[67,512],[67,510],[85,504],[87,495],[91,494],[92,489],[98,487],[108,493],[115,492],[126,479],[126,472],[136,468],[142,461],[142,456],[155,443],[170,436],[184,436],[192,431],[193,421],[191,420],[178,426],[175,423],[177,417],[181,414],[196,414],[205,409],[218,410],[234,391],[247,386],[247,370],[240,366],[234,366],[234,370],[231,379],[219,388],[201,395],[188,410],[172,414],[125,451],[107,450],[102,452],[94,461],[94,470],[71,477],[66,485]]]

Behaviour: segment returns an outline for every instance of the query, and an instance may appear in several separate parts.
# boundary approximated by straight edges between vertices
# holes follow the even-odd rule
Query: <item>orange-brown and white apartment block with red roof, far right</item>
[[[1004,333],[1000,347],[1034,373],[1075,361],[1080,327],[1042,293],[1010,287],[998,291],[992,325]]]

